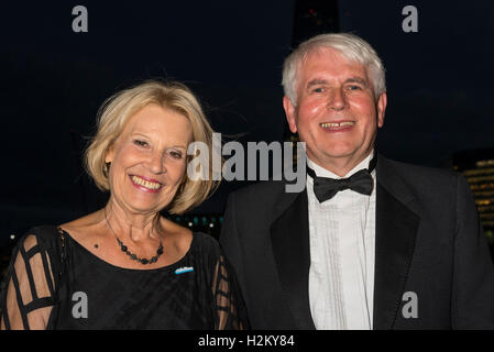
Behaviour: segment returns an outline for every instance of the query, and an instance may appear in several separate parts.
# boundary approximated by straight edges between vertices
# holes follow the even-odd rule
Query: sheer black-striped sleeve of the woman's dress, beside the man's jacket
[[[215,329],[249,329],[246,309],[235,274],[223,255],[217,262],[212,283],[216,306]]]

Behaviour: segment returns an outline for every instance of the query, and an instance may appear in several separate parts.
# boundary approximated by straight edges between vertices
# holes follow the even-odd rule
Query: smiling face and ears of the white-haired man
[[[303,61],[296,91],[296,106],[284,98],[285,112],[312,162],[331,169],[337,160],[354,166],[369,155],[384,123],[386,94],[376,100],[362,64],[319,48]]]

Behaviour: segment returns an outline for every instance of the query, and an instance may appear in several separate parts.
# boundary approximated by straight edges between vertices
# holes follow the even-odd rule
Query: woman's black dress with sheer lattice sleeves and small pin
[[[102,261],[61,229],[33,228],[13,251],[0,299],[4,329],[39,326],[41,309],[50,311],[47,329],[249,326],[235,275],[218,242],[204,233],[194,233],[175,264],[130,270]]]

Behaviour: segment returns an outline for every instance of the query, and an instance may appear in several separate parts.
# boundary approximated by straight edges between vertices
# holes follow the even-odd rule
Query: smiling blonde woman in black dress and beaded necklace
[[[246,328],[218,243],[160,215],[188,211],[218,186],[186,173],[188,145],[211,151],[212,132],[180,84],[149,81],[111,97],[85,155],[109,201],[20,240],[2,284],[1,328]]]

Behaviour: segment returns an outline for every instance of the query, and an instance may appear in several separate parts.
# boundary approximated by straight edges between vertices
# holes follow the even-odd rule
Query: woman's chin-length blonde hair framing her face
[[[105,157],[123,132],[130,118],[147,105],[157,105],[185,116],[193,127],[193,142],[204,142],[212,152],[212,133],[198,99],[185,85],[176,81],[145,81],[122,90],[107,99],[98,111],[97,133],[85,152],[85,167],[99,189],[110,190]],[[197,155],[197,153],[196,153]],[[187,162],[194,156],[188,155]],[[172,202],[166,207],[171,213],[184,213],[205,201],[219,186],[212,177],[212,163],[209,161],[209,177],[193,180],[184,174]]]

